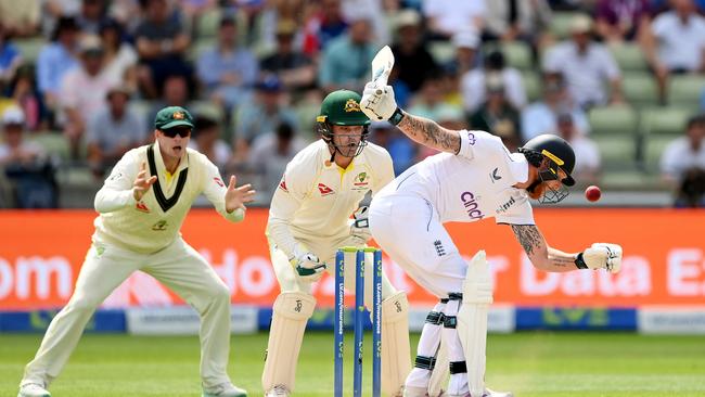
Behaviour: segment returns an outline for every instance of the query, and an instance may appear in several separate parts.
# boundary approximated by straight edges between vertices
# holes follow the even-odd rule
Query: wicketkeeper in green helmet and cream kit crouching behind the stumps
[[[316,306],[311,283],[326,270],[325,264],[335,262],[338,247],[366,245],[367,207],[358,208],[359,203],[394,179],[389,153],[367,141],[370,120],[360,111],[358,93],[330,93],[317,123],[322,139],[289,163],[269,210],[267,238],[281,293],[274,302],[261,377],[266,396],[294,390],[306,322]],[[344,270],[345,286],[355,291],[355,266],[348,265],[354,260],[346,259],[350,260]],[[366,302],[372,302],[372,266],[364,270]],[[387,396],[401,396],[411,370],[408,306],[406,294],[383,274],[382,389]]]

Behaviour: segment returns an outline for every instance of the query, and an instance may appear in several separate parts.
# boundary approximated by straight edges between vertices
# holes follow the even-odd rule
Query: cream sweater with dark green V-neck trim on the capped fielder
[[[143,162],[148,175],[157,175],[157,182],[136,202],[132,184]],[[201,193],[226,219],[241,221],[242,209],[226,212],[227,190],[218,168],[192,149],[187,149],[187,156],[171,177],[167,176],[158,143],[132,149],[95,194],[94,206],[100,216],[94,221],[93,241],[142,254],[156,253],[180,235],[181,223]]]

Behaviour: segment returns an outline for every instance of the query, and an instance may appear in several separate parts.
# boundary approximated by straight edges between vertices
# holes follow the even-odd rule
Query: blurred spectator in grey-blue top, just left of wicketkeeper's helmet
[[[287,124],[298,130],[296,113],[286,105],[282,90],[282,82],[277,76],[267,76],[257,84],[254,101],[238,108],[233,155],[235,163],[246,162],[253,141],[259,136],[275,131],[280,124]]]

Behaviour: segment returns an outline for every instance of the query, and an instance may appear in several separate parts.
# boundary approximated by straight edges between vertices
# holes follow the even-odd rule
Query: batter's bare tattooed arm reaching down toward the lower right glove
[[[548,246],[543,234],[536,225],[512,225],[512,231],[537,269],[551,272],[578,269],[575,265],[576,254],[564,253]]]

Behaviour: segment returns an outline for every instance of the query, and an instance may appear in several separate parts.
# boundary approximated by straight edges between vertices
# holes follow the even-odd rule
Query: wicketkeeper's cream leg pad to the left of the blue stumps
[[[315,307],[316,298],[299,292],[281,293],[274,300],[261,376],[265,392],[275,385],[284,385],[290,392],[294,390],[298,351],[304,341],[306,322]]]

